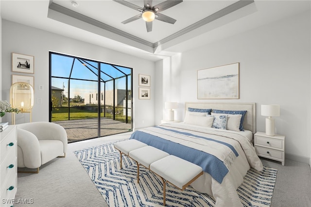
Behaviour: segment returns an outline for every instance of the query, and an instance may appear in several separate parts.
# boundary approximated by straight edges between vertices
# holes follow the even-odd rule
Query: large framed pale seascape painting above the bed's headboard
[[[239,99],[240,63],[197,71],[198,99]]]

